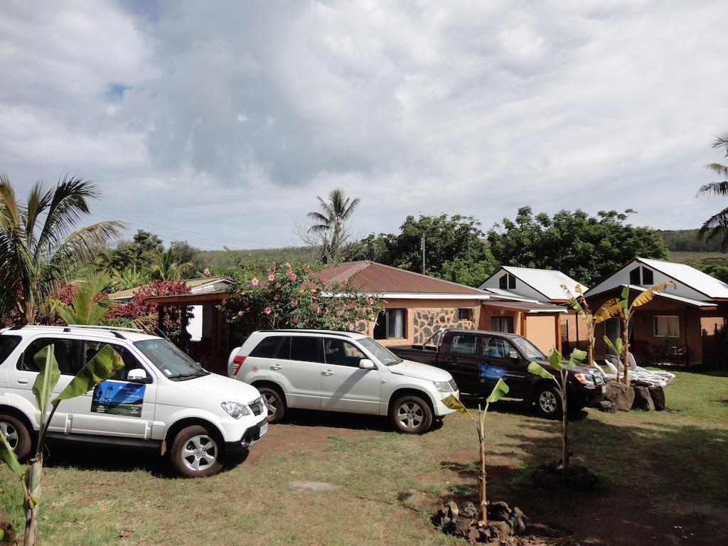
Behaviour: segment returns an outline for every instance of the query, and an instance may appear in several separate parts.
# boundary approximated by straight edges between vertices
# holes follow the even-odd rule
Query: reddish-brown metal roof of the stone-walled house
[[[376,261],[348,261],[327,267],[317,276],[329,282],[348,280],[373,294],[388,298],[427,298],[429,296],[454,296],[455,298],[488,299],[483,290],[456,282],[437,279],[429,275],[414,273],[398,267],[385,266]]]

